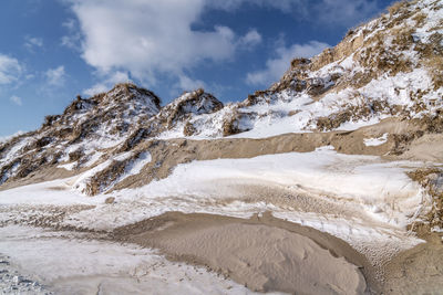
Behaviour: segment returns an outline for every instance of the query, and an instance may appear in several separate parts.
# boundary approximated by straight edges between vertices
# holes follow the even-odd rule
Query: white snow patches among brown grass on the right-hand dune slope
[[[411,6],[410,10],[416,12],[412,13],[410,19],[404,20],[404,22],[410,23],[412,28],[416,27],[414,28],[416,31],[413,35],[416,42],[426,43],[433,33],[443,33],[443,29],[441,28],[443,9],[441,6],[436,9],[437,6],[439,1],[435,0],[419,1]],[[424,25],[421,28],[413,21],[416,13],[426,14]],[[398,24],[391,29],[400,30],[402,29],[401,25],[404,24]],[[210,139],[222,137],[224,122],[229,120],[233,115],[236,116],[237,110],[239,117],[236,124],[243,133],[233,136],[235,138],[266,138],[288,133],[312,131],[317,127],[315,124],[316,120],[320,117],[328,117],[347,110],[350,107],[353,107],[351,108],[353,110],[369,108],[369,112],[371,112],[371,104],[374,102],[382,106],[388,105],[389,107],[384,107],[383,110],[372,112],[372,114],[361,115],[361,117],[358,117],[359,114],[356,114],[356,117],[344,122],[336,129],[354,130],[360,127],[378,124],[387,117],[394,116],[390,108],[399,106],[409,112],[412,118],[420,118],[424,114],[435,113],[436,109],[443,107],[441,99],[443,88],[426,92],[426,89],[433,89],[433,82],[429,75],[429,70],[423,66],[423,60],[412,48],[401,51],[396,50],[396,45],[392,42],[393,36],[389,34],[389,30],[391,29],[388,29],[383,21],[377,19],[358,28],[354,38],[362,35],[363,30],[370,32],[364,36],[365,41],[369,41],[375,33],[385,35],[385,51],[391,52],[391,54],[400,60],[409,61],[413,65],[413,71],[399,72],[395,75],[391,75],[389,71],[378,73],[379,76],[377,78],[373,78],[360,88],[351,85],[344,88],[338,87],[336,91],[332,88],[332,91],[320,97],[312,97],[306,91],[297,93],[288,89],[274,94],[262,94],[258,97],[262,103],[257,105],[240,108],[230,105],[215,114],[194,116],[190,123],[197,131],[188,138]],[[354,80],[357,74],[378,72],[378,70],[371,66],[364,67],[360,65],[358,59],[354,60],[365,48],[357,49],[349,56],[327,64],[318,71],[308,71],[306,74],[311,81],[319,82],[323,87],[328,87],[334,84],[332,80],[333,75],[342,76],[340,81],[346,82]],[[419,91],[421,91],[420,95],[418,95]],[[426,106],[421,112],[418,112],[415,107],[416,97],[411,97],[415,94]],[[184,124],[179,124],[176,128],[159,135],[159,138],[185,137],[183,127]]]

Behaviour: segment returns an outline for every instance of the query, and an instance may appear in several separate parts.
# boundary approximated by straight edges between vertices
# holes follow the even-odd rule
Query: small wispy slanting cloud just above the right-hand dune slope
[[[266,69],[253,73],[248,73],[246,82],[251,85],[268,86],[278,81],[295,57],[311,57],[319,54],[329,45],[318,41],[310,41],[307,44],[293,44],[289,48],[285,45],[278,46],[276,57],[266,62]]]

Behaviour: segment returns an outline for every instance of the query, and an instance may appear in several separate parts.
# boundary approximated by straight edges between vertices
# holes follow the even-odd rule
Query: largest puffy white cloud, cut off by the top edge
[[[101,75],[130,72],[145,84],[158,74],[177,78],[203,62],[231,60],[239,43],[258,41],[258,32],[238,36],[227,27],[195,31],[205,0],[71,0],[82,32],[82,56]]]

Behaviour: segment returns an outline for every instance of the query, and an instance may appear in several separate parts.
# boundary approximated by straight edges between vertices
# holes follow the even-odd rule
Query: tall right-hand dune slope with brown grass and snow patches
[[[258,138],[352,130],[387,117],[432,120],[442,108],[442,2],[400,2],[336,48],[295,59],[267,91],[189,124],[195,136]]]

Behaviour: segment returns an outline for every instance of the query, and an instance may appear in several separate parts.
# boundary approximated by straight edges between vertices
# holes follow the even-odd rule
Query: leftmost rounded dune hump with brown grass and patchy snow
[[[93,165],[102,150],[121,144],[135,126],[159,112],[159,98],[131,84],[109,93],[80,96],[62,115],[47,116],[39,130],[19,135],[0,145],[0,185],[43,168]]]

